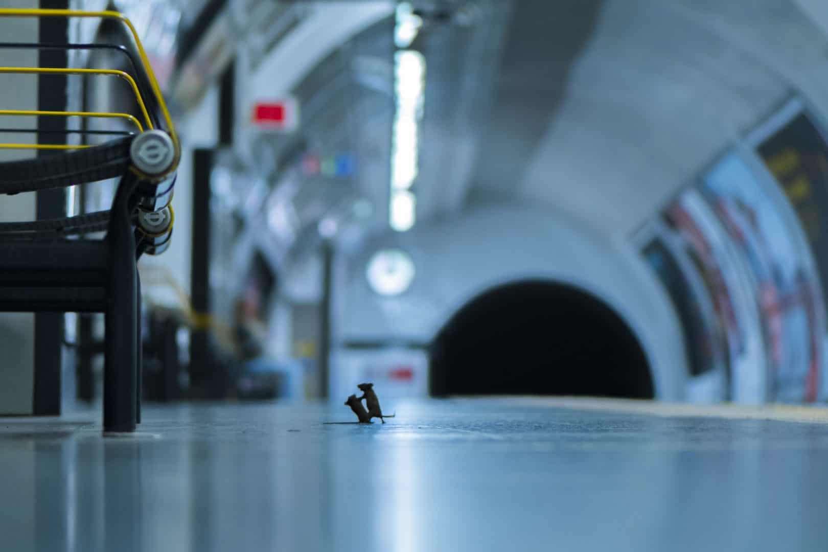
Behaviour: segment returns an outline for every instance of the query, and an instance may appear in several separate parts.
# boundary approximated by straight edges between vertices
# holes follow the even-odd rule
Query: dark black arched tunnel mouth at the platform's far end
[[[429,349],[429,391],[652,399],[647,356],[616,311],[578,287],[517,281],[464,305]]]

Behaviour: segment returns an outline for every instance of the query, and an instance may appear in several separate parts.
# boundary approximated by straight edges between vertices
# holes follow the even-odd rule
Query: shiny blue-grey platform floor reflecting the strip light
[[[825,410],[395,407],[2,419],[0,550],[828,550]]]

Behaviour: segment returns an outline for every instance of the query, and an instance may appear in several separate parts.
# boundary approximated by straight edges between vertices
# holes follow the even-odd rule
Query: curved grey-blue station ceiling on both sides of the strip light
[[[628,236],[791,94],[828,109],[821,26],[828,17],[818,17],[828,8],[813,0],[472,3],[477,17],[470,25],[426,17],[413,45],[428,63],[418,223],[465,204],[516,199],[553,204],[604,233]],[[310,145],[390,143],[388,123],[370,116],[388,109],[380,99],[392,89],[390,66],[360,68],[388,58],[392,22],[388,4],[370,5],[359,25],[339,24],[341,7],[319,5],[327,38],[341,39],[336,56],[364,101],[344,104],[342,95],[309,112],[303,137]],[[388,32],[378,34],[383,21]],[[325,79],[311,81],[330,55],[310,55],[304,64],[288,55],[316,40],[306,33],[302,42],[300,35],[262,62],[253,89],[273,91],[272,83],[284,88],[286,80],[299,95],[304,85],[325,87]],[[345,46],[368,43],[358,36],[388,44],[373,41],[373,50],[354,50],[348,62]],[[344,109],[365,113],[361,128],[354,131]],[[373,199],[373,228],[387,220],[386,157],[365,160],[354,183]],[[306,186],[303,194],[330,203],[324,187]]]

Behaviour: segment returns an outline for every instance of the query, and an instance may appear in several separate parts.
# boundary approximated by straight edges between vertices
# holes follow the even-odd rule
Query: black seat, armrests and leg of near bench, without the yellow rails
[[[121,175],[107,212],[0,223],[0,311],[105,315],[105,431],[132,431],[140,423],[137,258],[148,246],[152,248],[153,240],[166,241],[171,234],[170,226],[166,235],[147,238],[137,218],[138,205],[169,194],[169,182],[174,180],[170,172],[155,179],[137,175],[128,152],[132,142],[142,137],[118,138],[60,156],[0,163],[0,194],[55,190]],[[68,234],[101,229],[106,230],[103,239],[65,239]],[[54,379],[48,383],[56,385]]]

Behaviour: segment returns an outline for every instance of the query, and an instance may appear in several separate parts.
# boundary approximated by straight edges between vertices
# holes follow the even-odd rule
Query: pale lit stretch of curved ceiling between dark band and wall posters
[[[545,5],[532,6],[536,17],[582,22],[594,2]],[[554,34],[520,28],[523,8],[507,51],[555,51]],[[560,71],[562,98],[547,91],[555,110],[542,136],[532,140],[537,124],[493,132],[503,142],[493,150],[522,148],[525,170],[479,174],[475,194],[542,200],[626,234],[794,90],[826,98],[826,51],[826,36],[787,0],[601,2],[585,47]],[[512,102],[522,99],[537,103],[537,89]]]

